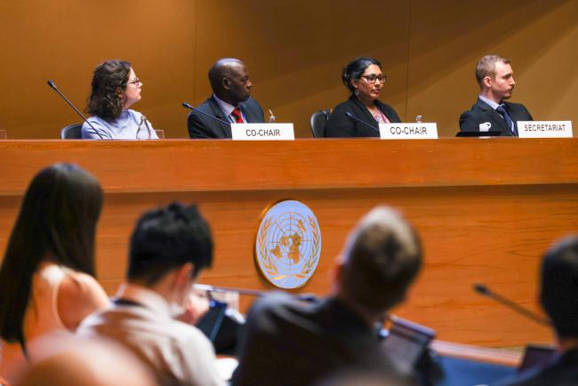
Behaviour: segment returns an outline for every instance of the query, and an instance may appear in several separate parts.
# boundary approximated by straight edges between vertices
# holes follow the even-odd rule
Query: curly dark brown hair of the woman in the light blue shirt
[[[131,74],[131,63],[125,60],[107,60],[94,68],[92,92],[86,111],[107,121],[115,120],[123,111],[125,97],[118,94],[126,89]]]

